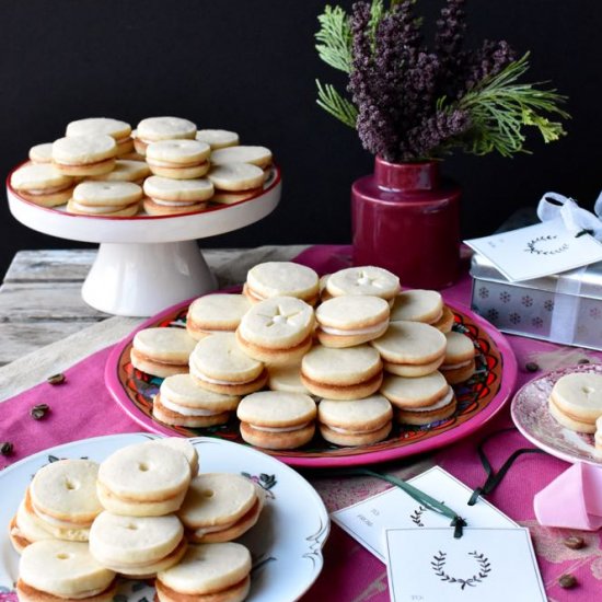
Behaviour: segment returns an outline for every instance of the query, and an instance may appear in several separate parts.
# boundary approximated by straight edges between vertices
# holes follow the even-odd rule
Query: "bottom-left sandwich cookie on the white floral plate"
[[[16,593],[21,602],[111,602],[115,572],[101,566],[85,543],[35,542],[21,556]]]

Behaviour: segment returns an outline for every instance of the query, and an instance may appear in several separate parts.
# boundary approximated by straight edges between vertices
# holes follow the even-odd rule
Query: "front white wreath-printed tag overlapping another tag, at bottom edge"
[[[391,602],[545,602],[529,530],[387,529]]]

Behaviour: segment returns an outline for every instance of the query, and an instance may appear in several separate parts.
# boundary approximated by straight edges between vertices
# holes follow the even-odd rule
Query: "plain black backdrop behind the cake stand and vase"
[[[341,0],[346,7],[351,2]],[[432,21],[440,0],[418,0]],[[268,146],[283,170],[279,208],[205,246],[347,242],[349,186],[371,171],[355,132],[314,103],[314,79],[339,82],[313,49],[317,0],[1,0],[0,171],[65,125],[111,116],[132,125],[177,115]],[[569,135],[532,155],[453,157],[464,235],[487,234],[516,208],[557,190],[584,206],[602,184],[600,32],[595,0],[473,0],[471,38],[532,50],[530,78],[570,96]],[[83,246],[33,232],[1,206],[0,274],[20,248]]]

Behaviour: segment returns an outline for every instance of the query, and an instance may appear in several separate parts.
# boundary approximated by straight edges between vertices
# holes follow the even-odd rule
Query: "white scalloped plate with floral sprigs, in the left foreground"
[[[13,587],[19,555],[9,541],[7,526],[35,472],[62,458],[102,461],[125,445],[157,438],[138,432],[74,441],[30,455],[0,472],[0,487],[4,491],[0,506],[0,600],[16,602]],[[322,547],[329,532],[328,513],[315,489],[292,468],[253,448],[206,437],[190,442],[199,453],[201,472],[242,473],[266,491],[259,522],[236,540],[251,549],[253,558],[247,600],[288,602],[301,598],[322,570]],[[217,448],[217,453],[211,448]],[[125,595],[123,602],[154,599],[154,588],[146,581],[124,581],[117,591]]]

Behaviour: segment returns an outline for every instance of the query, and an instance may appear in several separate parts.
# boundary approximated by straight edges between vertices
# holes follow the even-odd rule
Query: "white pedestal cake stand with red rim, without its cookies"
[[[21,223],[51,236],[100,243],[83,300],[93,308],[129,316],[150,316],[185,299],[213,290],[196,240],[239,230],[269,215],[280,200],[280,170],[263,193],[235,205],[182,216],[99,218],[39,207],[19,196],[7,178],[11,213]]]

